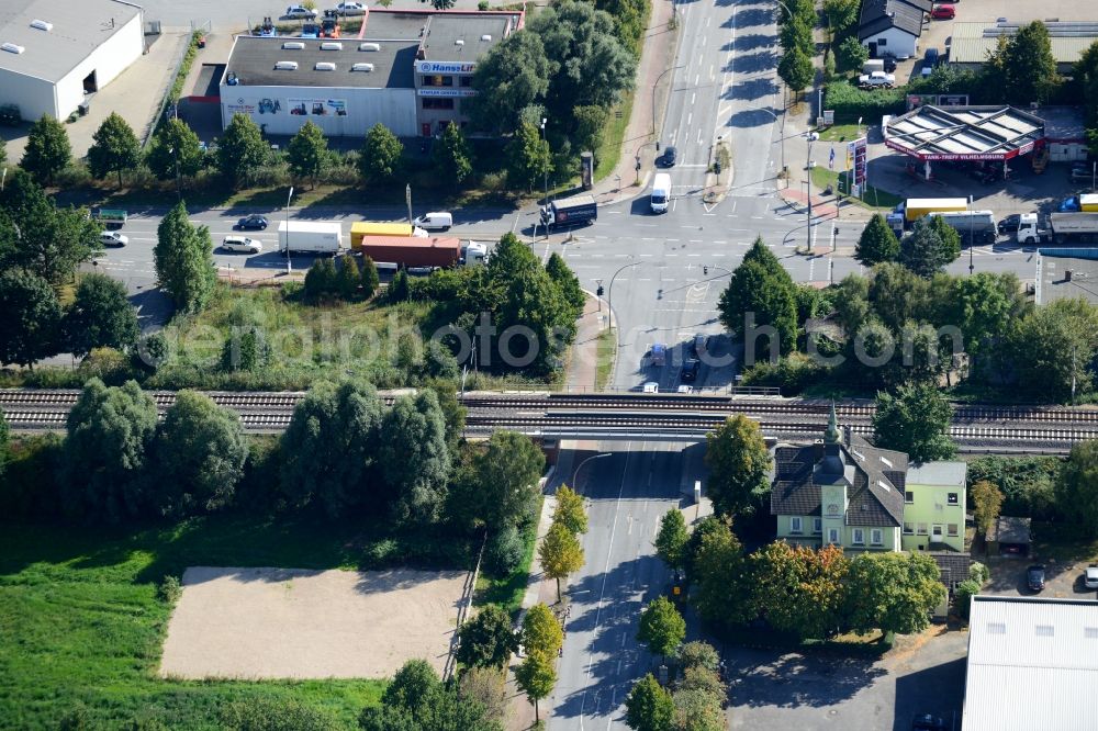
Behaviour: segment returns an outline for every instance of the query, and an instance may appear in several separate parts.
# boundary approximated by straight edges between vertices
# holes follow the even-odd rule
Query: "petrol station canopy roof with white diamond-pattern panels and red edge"
[[[885,144],[920,160],[1006,160],[1044,139],[1044,120],[1013,106],[919,106],[894,116]]]

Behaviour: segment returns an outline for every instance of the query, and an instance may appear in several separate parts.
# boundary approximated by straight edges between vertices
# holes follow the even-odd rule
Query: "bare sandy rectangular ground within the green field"
[[[441,671],[466,576],[192,566],[168,626],[160,674],[385,677],[413,657]]]

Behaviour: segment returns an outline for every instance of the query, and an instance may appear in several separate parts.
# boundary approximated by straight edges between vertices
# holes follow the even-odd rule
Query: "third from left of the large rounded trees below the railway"
[[[298,402],[282,432],[281,484],[291,505],[320,503],[329,517],[366,505],[381,513],[377,483],[382,404],[372,386],[318,383]]]

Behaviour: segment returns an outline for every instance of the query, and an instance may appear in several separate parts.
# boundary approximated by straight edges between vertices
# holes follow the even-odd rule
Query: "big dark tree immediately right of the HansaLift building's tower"
[[[536,33],[517,31],[500,41],[473,71],[479,93],[469,105],[477,127],[497,134],[514,130],[519,112],[545,99],[549,74],[549,59]]]

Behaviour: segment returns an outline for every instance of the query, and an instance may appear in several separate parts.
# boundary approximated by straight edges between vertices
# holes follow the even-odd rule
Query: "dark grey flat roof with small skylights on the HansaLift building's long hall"
[[[372,15],[373,13],[371,13]],[[284,43],[304,44],[285,49]],[[321,44],[338,43],[338,50],[322,50]],[[235,74],[242,87],[351,87],[359,89],[411,89],[418,41],[373,41],[379,50],[360,50],[357,38],[262,38],[239,35],[228,56],[225,79]],[[279,61],[296,61],[295,70],[276,69]],[[317,63],[336,65],[334,71],[316,70]],[[373,64],[372,71],[354,71],[355,64]],[[224,85],[224,82],[223,82]],[[224,90],[222,93],[226,93]]]

